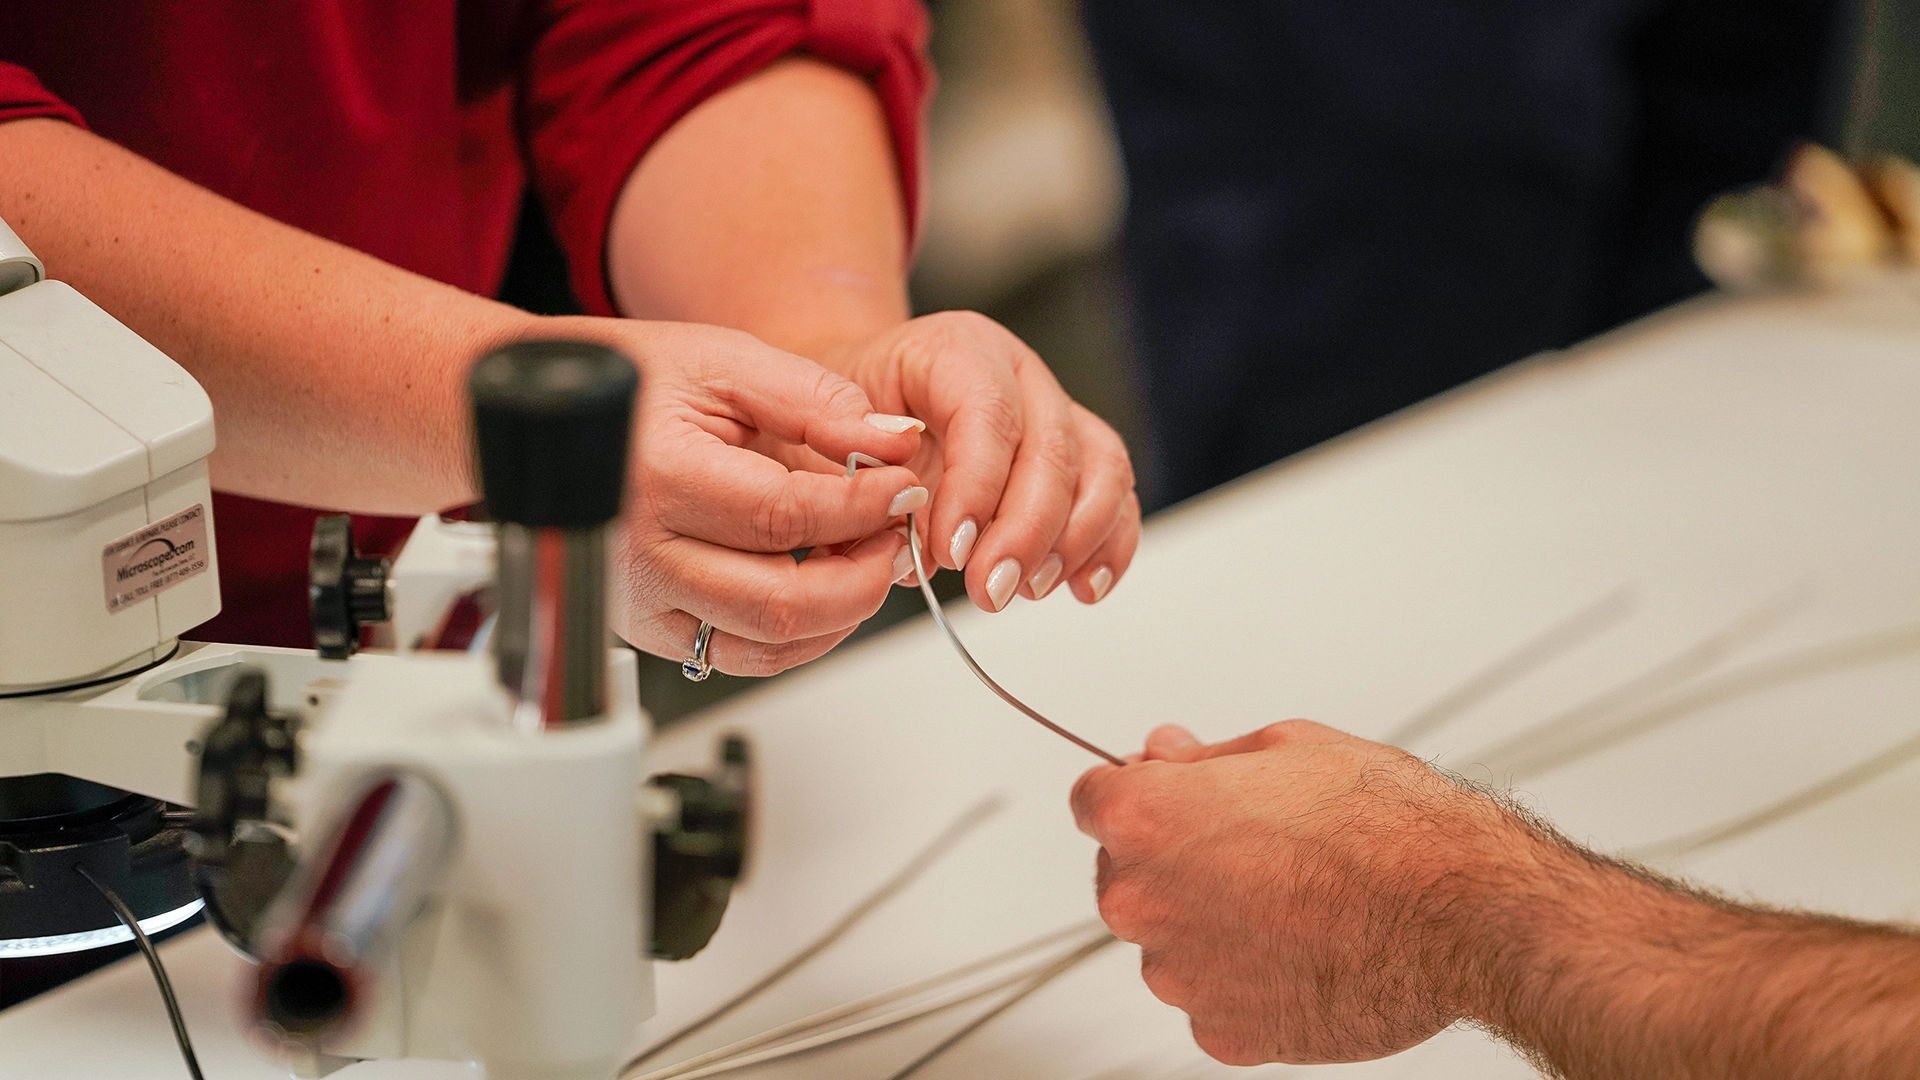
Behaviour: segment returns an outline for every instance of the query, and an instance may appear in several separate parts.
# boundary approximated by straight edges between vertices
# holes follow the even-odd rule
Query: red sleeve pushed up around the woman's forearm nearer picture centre
[[[549,0],[536,33],[522,138],[589,313],[614,313],[607,223],[639,158],[697,104],[793,52],[874,85],[914,234],[931,86],[918,0]]]

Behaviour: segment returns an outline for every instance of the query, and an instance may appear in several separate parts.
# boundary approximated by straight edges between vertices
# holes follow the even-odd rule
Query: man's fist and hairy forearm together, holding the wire
[[[1231,1065],[1382,1057],[1467,1017],[1571,1080],[1920,1074],[1912,930],[1688,890],[1321,724],[1160,728],[1073,813],[1100,915]]]

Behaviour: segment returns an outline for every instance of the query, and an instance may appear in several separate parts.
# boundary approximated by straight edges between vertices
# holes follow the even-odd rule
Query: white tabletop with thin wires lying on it
[[[1212,738],[1313,717],[1382,738],[1582,609],[1599,613],[1594,632],[1409,748],[1515,778],[1569,834],[1624,851],[1751,815],[1920,732],[1920,284],[1701,304],[1515,365],[1160,517],[1096,607],[1060,590],[956,625],[1004,684],[1125,751],[1164,721]],[[1628,719],[1647,730],[1555,769],[1515,774],[1526,753],[1488,753],[1544,721]],[[753,874],[703,955],[659,967],[660,1015],[636,1045],[781,961],[993,792],[1006,809],[914,888],[684,1053],[1092,915],[1094,849],[1066,813],[1092,759],[993,700],[929,621],[670,730],[653,765],[701,767],[724,730],[758,748]],[[1738,896],[1914,919],[1916,828],[1908,761],[1661,865]],[[207,1076],[282,1076],[236,1032],[238,961],[207,932],[165,955]],[[1108,949],[922,1076],[1244,1072],[1208,1063],[1135,965]],[[881,1078],[966,1019],[753,1076]],[[1296,1072],[1532,1076],[1467,1030],[1379,1063],[1256,1074]],[[182,1074],[138,961],[0,1013],[8,1080]]]

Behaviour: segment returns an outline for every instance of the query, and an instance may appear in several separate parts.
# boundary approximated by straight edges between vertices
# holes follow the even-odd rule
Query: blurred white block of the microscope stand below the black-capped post
[[[367,771],[428,776],[457,813],[438,911],[411,928],[342,1057],[480,1061],[488,1080],[609,1080],[653,1013],[634,653],[609,717],[524,732],[486,655],[359,653],[301,734],[288,801],[330,821]]]

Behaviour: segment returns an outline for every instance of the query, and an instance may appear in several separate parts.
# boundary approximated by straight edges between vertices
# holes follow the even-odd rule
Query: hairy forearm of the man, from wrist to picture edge
[[[1469,1013],[1572,1080],[1920,1074],[1920,938],[1693,894],[1530,838]],[[1542,847],[1546,846],[1546,847]],[[1551,849],[1548,849],[1551,847]]]

